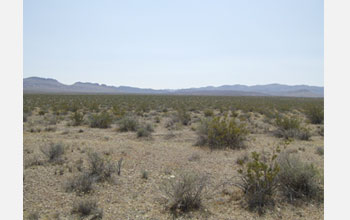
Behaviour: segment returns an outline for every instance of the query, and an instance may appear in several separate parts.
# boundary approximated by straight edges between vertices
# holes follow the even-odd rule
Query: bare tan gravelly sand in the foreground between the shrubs
[[[40,215],[40,219],[77,219],[71,214],[71,209],[81,198],[96,200],[99,208],[103,209],[103,219],[173,219],[165,208],[166,200],[160,187],[164,181],[176,178],[182,171],[207,174],[210,187],[203,201],[204,208],[178,219],[323,219],[323,205],[293,206],[283,201],[259,216],[242,206],[240,192],[235,187],[217,187],[237,176],[238,157],[251,151],[271,152],[281,144],[282,140],[272,136],[269,128],[265,128],[267,132],[257,129],[250,134],[246,149],[211,151],[194,146],[197,135],[191,126],[169,131],[164,126],[165,118],[159,124],[154,123],[156,127],[151,139],[139,139],[134,132],[117,132],[114,126],[108,129],[67,126],[67,120],[52,125],[56,131],[44,131],[47,126],[40,124],[41,120],[43,116],[33,115],[29,117],[29,122],[24,123],[24,164],[34,157],[44,160],[40,148],[51,142],[63,143],[65,162],[24,168],[25,219],[34,212]],[[259,123],[264,126],[260,120]],[[31,133],[30,128],[33,127],[43,131]],[[259,125],[255,127],[259,128]],[[84,132],[79,133],[80,129]],[[170,137],[169,133],[173,136]],[[288,150],[313,162],[323,172],[323,156],[316,154],[316,148],[323,146],[323,137],[314,132],[311,139],[295,140]],[[107,160],[115,162],[123,158],[121,176],[114,176],[112,182],[95,184],[93,192],[85,196],[65,192],[64,182],[79,173],[77,161],[82,159],[87,166],[89,151],[101,152]],[[189,160],[193,155],[199,155],[199,160]],[[148,179],[141,178],[143,170],[148,172]]]

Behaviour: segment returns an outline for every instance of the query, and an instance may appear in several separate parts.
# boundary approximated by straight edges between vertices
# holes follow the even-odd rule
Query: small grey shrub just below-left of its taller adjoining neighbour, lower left
[[[77,176],[69,178],[65,182],[66,192],[75,191],[78,194],[86,194],[92,190],[94,179],[89,173],[82,173]]]

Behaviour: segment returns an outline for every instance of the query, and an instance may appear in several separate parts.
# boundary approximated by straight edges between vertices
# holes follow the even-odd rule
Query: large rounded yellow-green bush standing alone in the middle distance
[[[212,149],[237,149],[244,147],[243,142],[248,131],[243,124],[237,124],[234,119],[214,117],[202,120],[197,134],[197,145],[209,145]]]

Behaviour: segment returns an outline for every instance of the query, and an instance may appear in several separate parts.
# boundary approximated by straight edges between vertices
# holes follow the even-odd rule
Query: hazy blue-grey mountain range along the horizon
[[[55,79],[29,77],[23,79],[24,93],[67,93],[67,94],[168,94],[168,95],[217,95],[217,96],[286,96],[323,97],[324,88],[307,85],[223,85],[200,88],[156,90],[129,86],[107,86],[98,83],[76,82],[65,85]]]

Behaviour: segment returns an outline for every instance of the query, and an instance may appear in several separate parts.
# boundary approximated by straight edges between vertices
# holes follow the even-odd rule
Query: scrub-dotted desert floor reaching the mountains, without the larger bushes
[[[77,108],[69,109],[71,103],[78,103],[77,97],[102,101],[88,108],[83,100]],[[311,123],[302,107],[305,104],[323,108],[323,99],[286,99],[290,104],[283,110],[278,107],[279,102],[281,106],[285,104],[283,100],[276,101],[277,107],[264,106],[271,112],[280,111],[283,117],[298,119],[300,126],[307,130],[307,137],[281,137],[276,135],[275,115],[261,111],[261,105],[254,100],[248,101],[252,109],[245,105],[230,108],[230,103],[221,109],[220,103],[231,98],[223,98],[219,103],[218,99],[208,98],[204,106],[195,103],[190,106],[188,100],[202,102],[204,98],[185,97],[182,104],[182,99],[176,97],[176,103],[182,108],[179,111],[168,105],[164,97],[147,105],[158,100],[157,96],[150,100],[143,96],[123,97],[112,104],[105,102],[103,96],[77,97],[60,108],[54,107],[55,103],[70,100],[69,95],[64,96],[64,101],[55,95],[24,96],[24,219],[323,219],[323,200],[291,202],[279,188],[273,194],[273,205],[266,205],[262,213],[251,210],[245,192],[235,184],[241,181],[239,170],[246,169],[238,161],[248,164],[252,152],[266,158],[278,152],[278,155],[294,155],[304,163],[313,164],[322,190],[318,195],[323,194],[324,125]],[[138,108],[136,99],[147,101]],[[133,100],[133,106],[128,105],[128,100]],[[299,102],[302,104],[294,104]],[[93,126],[92,115],[102,112],[109,116],[106,128]],[[185,112],[185,120],[179,112]],[[74,114],[81,114],[81,118]],[[123,126],[128,126],[126,117],[136,121],[135,130],[123,130]],[[215,117],[244,125],[247,134],[241,141],[242,146],[198,144],[202,121]],[[55,145],[63,149],[57,157],[50,154],[50,146]],[[106,167],[110,165],[109,172],[104,176],[92,175],[91,155],[98,155]],[[80,182],[74,185],[74,178],[84,173],[91,174],[91,186],[86,191],[77,186]],[[200,206],[185,211],[171,210],[173,198],[166,189],[171,191],[167,188],[169,183],[176,183],[186,173],[205,176]],[[77,208],[83,201],[93,203],[91,210],[84,212]]]

